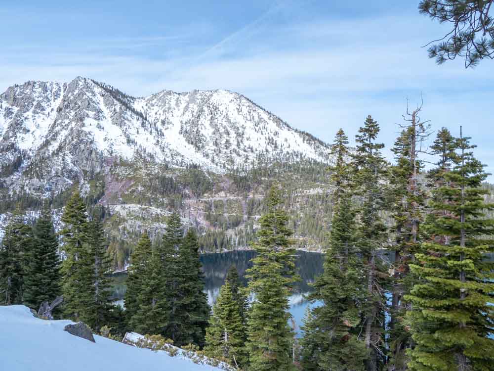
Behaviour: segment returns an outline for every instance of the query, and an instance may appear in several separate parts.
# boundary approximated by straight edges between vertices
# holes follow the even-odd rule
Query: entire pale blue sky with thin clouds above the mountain
[[[462,125],[494,172],[494,61],[436,65],[422,46],[448,26],[418,2],[0,1],[0,91],[76,76],[134,96],[227,89],[327,142],[339,128],[353,142],[371,114],[390,159],[423,100],[421,119]]]

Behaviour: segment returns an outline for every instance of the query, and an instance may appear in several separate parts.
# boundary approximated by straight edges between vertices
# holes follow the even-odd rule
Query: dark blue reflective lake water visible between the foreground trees
[[[300,331],[302,319],[310,303],[305,300],[304,295],[311,290],[310,283],[323,273],[324,255],[315,252],[297,251],[295,262],[297,273],[301,281],[295,286],[293,295],[289,298],[290,313],[296,324],[295,330]],[[254,251],[229,251],[222,253],[211,253],[201,255],[201,263],[205,275],[205,292],[210,305],[214,303],[218,296],[219,289],[225,283],[226,274],[231,265],[235,265],[239,271],[239,276],[247,284],[245,273],[252,266],[250,259],[255,256]],[[114,277],[113,296],[115,300],[121,300],[125,294],[125,273],[116,274]]]

